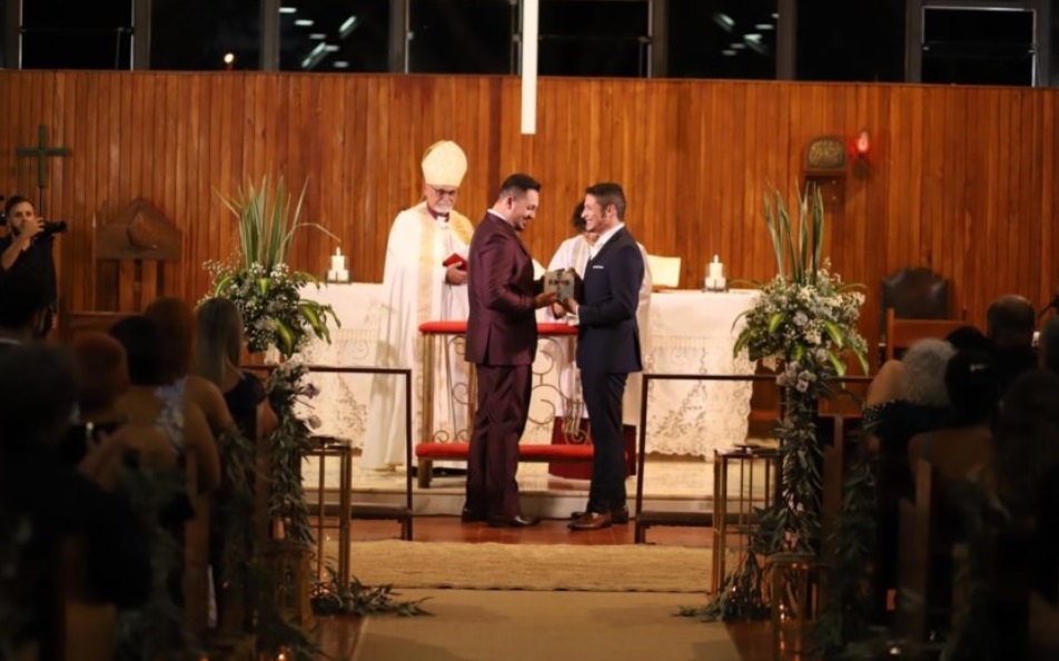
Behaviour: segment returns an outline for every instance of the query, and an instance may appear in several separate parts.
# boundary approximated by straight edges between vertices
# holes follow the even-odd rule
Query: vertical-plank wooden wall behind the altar
[[[682,284],[697,287],[714,254],[731,278],[770,277],[766,186],[793,190],[813,137],[867,128],[869,168],[845,177],[827,250],[869,285],[865,332],[879,326],[880,278],[903,266],[950,278],[976,323],[994,296],[1042,304],[1059,279],[1059,90],[544,79],[535,136],[519,135],[508,77],[0,71],[0,193],[36,195],[36,160],[14,151],[38,125],[71,149],[49,160],[43,206],[72,226],[62,295],[75,309],[92,302],[93,219],[140,196],[185,230],[167,276],[197,299],[202,263],[237,247],[217,193],[263,175],[308,181],[307,219],[342,238],[356,279],[378,282],[389,223],[417,200],[420,155],[442,138],[468,154],[457,208],[474,220],[505,175],[544,182],[525,237],[542,262],[571,234],[584,187],[615,180],[632,231],[682,256]],[[304,230],[291,263],[323,274],[335,247]]]

